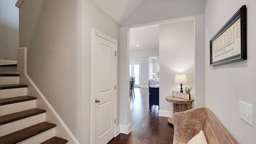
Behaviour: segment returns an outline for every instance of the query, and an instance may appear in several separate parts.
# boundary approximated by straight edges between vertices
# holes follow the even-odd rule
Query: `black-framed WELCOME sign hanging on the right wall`
[[[210,66],[247,59],[247,18],[243,5],[210,39]]]

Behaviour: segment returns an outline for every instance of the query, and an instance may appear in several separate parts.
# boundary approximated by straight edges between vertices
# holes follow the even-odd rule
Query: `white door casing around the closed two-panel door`
[[[95,61],[94,61],[94,58],[95,58],[95,36],[98,35],[102,38],[105,38],[111,42],[113,42],[114,44],[116,44],[116,53],[117,53],[117,46],[118,46],[118,42],[117,40],[113,39],[113,38],[110,38],[109,36],[95,30],[92,28],[92,59],[91,59],[91,144],[94,144],[94,103],[95,103],[95,100],[94,100],[94,80],[95,80]],[[116,85],[116,90],[115,90],[115,120],[117,120],[116,116],[117,116],[117,54],[116,54],[116,57],[115,57],[115,85]],[[117,134],[117,124],[115,123],[115,134],[114,136],[116,137],[116,134]]]

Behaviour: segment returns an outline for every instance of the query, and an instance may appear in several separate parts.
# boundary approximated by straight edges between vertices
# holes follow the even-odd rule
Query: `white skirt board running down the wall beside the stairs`
[[[37,96],[36,106],[46,109],[46,121],[57,124],[56,136],[68,140],[68,144],[80,144],[76,137],[72,134],[68,126],[63,122],[58,113],[54,110],[36,84],[27,74],[27,47],[18,48],[17,50],[17,71],[20,73],[19,81],[21,84],[27,84],[28,95]]]

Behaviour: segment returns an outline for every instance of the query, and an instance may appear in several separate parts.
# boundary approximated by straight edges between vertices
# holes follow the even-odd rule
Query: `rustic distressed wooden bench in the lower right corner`
[[[173,144],[186,144],[203,130],[208,144],[235,144],[208,108],[174,113]]]

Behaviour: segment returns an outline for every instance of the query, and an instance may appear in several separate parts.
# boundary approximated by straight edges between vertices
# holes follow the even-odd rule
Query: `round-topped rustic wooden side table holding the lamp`
[[[168,102],[172,102],[172,117],[168,118],[168,122],[173,124],[173,116],[175,112],[184,112],[192,108],[191,104],[194,102],[194,98],[191,100],[186,100],[184,98],[178,98],[174,96],[166,96],[165,99]]]

